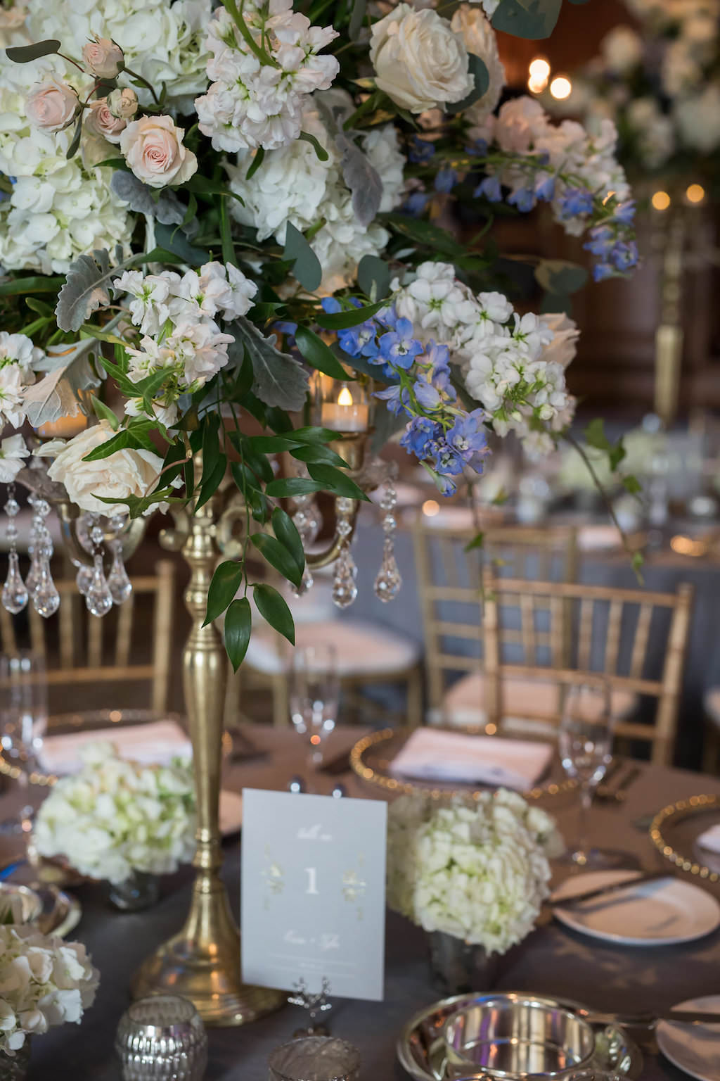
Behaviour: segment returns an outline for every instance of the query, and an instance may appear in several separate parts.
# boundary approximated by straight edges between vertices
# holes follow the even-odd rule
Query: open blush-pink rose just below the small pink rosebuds
[[[151,188],[185,184],[198,170],[198,159],[182,146],[185,132],[172,117],[133,120],[120,136],[120,149],[138,181]]]

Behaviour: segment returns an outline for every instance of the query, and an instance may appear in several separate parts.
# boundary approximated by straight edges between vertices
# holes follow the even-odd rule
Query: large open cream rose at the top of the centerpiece
[[[372,27],[370,59],[378,89],[411,112],[460,102],[473,89],[462,36],[436,11],[399,3]]]

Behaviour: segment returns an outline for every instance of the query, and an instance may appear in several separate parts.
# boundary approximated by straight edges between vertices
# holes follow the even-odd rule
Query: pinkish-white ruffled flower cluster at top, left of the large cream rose
[[[195,101],[200,130],[216,150],[274,150],[298,138],[307,96],[328,90],[340,70],[335,56],[318,55],[338,34],[293,12],[293,0],[271,0],[269,8],[246,0],[243,19],[273,63],[262,63],[218,9],[206,40],[213,82]]]

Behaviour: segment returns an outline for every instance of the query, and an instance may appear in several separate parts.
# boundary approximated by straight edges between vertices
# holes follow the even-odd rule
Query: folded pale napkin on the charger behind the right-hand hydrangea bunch
[[[457,780],[527,791],[542,777],[553,745],[500,736],[417,729],[393,759],[391,770],[422,780]]]

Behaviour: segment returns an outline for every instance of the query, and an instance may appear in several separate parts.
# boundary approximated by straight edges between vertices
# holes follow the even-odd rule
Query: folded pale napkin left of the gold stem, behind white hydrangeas
[[[167,765],[174,758],[192,758],[192,744],[175,721],[152,721],[150,724],[45,736],[38,755],[40,765],[47,773],[77,773],[82,766],[80,748],[97,739],[109,739],[122,758],[142,765]]]

